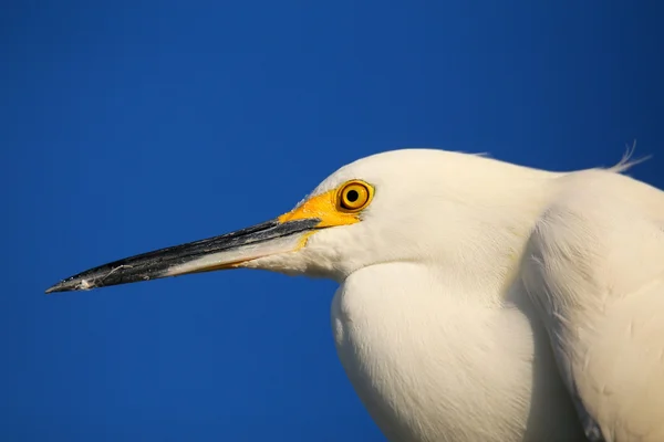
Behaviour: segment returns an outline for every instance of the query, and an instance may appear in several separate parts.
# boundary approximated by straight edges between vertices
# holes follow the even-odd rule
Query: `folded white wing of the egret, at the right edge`
[[[664,192],[566,177],[520,270],[591,440],[664,440]]]

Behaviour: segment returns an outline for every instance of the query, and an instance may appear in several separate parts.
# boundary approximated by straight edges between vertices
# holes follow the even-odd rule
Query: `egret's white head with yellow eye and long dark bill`
[[[444,150],[374,155],[271,221],[104,264],[48,293],[239,267],[342,281],[381,263],[473,260],[499,242],[500,213],[518,206],[517,170],[528,169]]]

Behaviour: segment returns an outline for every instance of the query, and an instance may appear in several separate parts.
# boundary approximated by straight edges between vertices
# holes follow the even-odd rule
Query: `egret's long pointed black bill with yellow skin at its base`
[[[339,212],[334,194],[328,192],[309,199],[272,221],[100,265],[61,281],[46,293],[235,269],[259,257],[297,251],[319,229],[357,221],[354,215]]]

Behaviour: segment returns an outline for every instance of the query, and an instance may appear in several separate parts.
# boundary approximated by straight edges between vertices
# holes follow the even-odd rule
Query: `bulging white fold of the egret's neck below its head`
[[[505,441],[522,435],[532,412],[529,320],[518,308],[471,298],[415,263],[362,269],[336,293],[332,326],[340,359],[388,438],[489,440],[486,434],[492,434],[490,441]],[[548,404],[564,409],[558,407],[563,399],[556,375],[544,375]],[[543,433],[535,440],[554,433],[556,440],[570,440],[563,424],[571,419],[537,404],[536,414],[548,420],[536,425]],[[471,430],[455,433],[459,428]]]

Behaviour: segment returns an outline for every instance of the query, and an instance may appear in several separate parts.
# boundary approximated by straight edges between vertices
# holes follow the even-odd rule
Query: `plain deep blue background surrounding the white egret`
[[[0,439],[382,441],[335,285],[256,271],[45,296],[292,208],[400,147],[664,187],[663,3],[13,1],[0,14]]]

